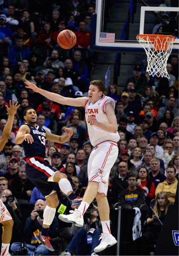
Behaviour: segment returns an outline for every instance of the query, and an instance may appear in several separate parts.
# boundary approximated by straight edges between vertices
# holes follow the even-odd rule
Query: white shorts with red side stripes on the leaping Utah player
[[[107,195],[111,168],[118,156],[117,143],[104,141],[95,146],[88,159],[88,181],[99,182],[98,193]]]

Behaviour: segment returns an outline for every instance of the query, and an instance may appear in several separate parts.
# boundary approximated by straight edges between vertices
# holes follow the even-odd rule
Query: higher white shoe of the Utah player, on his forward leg
[[[74,209],[69,211],[71,214],[65,215],[65,214],[59,214],[58,218],[62,220],[63,222],[72,223],[77,227],[83,227],[83,215],[77,210]]]

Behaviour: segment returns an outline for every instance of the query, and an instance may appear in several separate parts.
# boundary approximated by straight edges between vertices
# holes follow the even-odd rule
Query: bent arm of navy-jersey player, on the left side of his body
[[[22,125],[15,138],[15,144],[21,144],[23,141],[32,144],[34,142],[32,135],[30,135],[30,128],[28,125]]]

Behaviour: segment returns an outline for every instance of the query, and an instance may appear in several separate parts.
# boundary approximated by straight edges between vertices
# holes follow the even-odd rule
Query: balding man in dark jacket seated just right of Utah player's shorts
[[[111,189],[112,193],[108,201],[111,204],[115,204],[118,201],[119,194],[128,187],[128,167],[126,162],[120,162],[118,164],[117,176],[112,178]]]

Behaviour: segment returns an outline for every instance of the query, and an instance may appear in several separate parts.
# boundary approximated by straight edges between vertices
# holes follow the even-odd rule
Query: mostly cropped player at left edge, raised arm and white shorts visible
[[[3,129],[3,134],[0,137],[0,151],[3,150],[4,145],[6,144],[6,142],[10,137],[10,133],[13,127],[14,115],[19,107],[20,105],[18,105],[18,102],[14,104],[14,100],[12,103],[11,101],[9,102],[9,107],[6,106],[9,116],[8,116],[8,121]],[[2,235],[1,255],[10,255],[9,245],[10,245],[11,236],[13,232],[14,222],[8,209],[3,204],[3,201],[1,199],[0,199],[0,223],[3,224],[4,226],[3,235]]]

